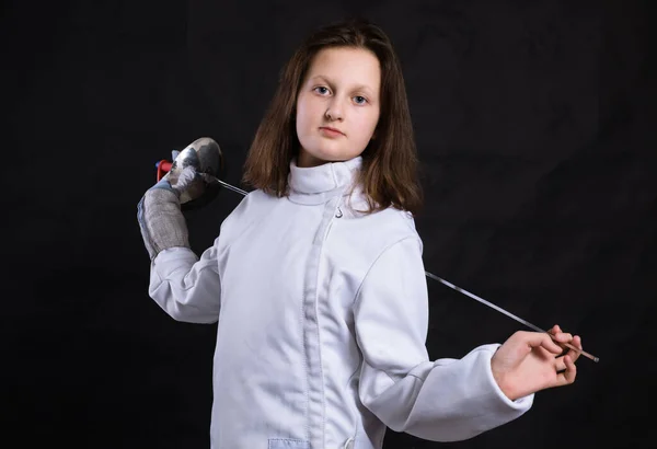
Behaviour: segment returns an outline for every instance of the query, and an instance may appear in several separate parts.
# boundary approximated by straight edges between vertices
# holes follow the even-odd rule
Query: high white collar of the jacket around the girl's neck
[[[356,157],[344,162],[301,168],[293,159],[288,176],[289,198],[295,203],[322,204],[334,196],[348,194],[361,164],[362,158]]]

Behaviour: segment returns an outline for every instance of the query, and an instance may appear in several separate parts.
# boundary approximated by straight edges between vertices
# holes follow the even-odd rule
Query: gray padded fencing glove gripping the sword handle
[[[175,186],[171,185],[168,176],[149,188],[137,206],[137,220],[151,261],[163,250],[189,247],[180,197],[198,174],[193,166],[186,166]]]

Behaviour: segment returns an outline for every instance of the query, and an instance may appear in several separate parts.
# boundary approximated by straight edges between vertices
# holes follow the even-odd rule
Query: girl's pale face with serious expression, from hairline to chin
[[[325,48],[312,60],[297,97],[299,166],[360,156],[379,122],[381,68],[362,48]]]

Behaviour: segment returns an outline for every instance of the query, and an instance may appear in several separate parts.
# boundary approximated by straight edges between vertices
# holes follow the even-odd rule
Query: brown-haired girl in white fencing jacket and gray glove
[[[411,116],[373,24],[324,27],[295,53],[246,160],[255,189],[200,257],[178,199],[196,175],[150,188],[139,223],[152,299],[218,322],[214,449],[374,449],[387,426],[462,440],[575,380],[578,353],[534,332],[429,360]]]

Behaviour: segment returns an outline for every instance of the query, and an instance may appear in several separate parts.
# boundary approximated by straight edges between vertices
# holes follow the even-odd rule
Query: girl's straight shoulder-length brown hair
[[[381,65],[381,112],[377,138],[361,154],[358,180],[367,197],[368,211],[392,206],[417,214],[423,198],[401,64],[385,33],[359,19],[319,28],[284,67],[274,99],[249,150],[243,181],[279,197],[288,194],[289,164],[299,153],[297,95],[313,57],[321,49],[332,47],[368,49]]]

